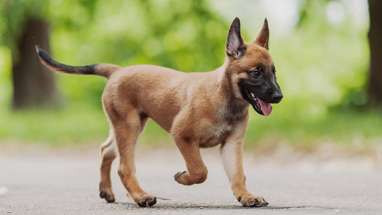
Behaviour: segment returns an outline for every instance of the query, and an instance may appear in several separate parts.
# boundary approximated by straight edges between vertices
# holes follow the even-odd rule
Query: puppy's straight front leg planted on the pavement
[[[248,121],[236,125],[220,147],[225,172],[236,199],[244,207],[262,207],[268,202],[262,196],[252,195],[246,188],[243,171],[243,139]]]

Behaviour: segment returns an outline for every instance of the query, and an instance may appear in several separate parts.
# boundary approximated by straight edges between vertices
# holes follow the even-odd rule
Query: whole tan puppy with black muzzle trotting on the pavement
[[[119,153],[118,174],[134,202],[141,207],[157,202],[155,196],[139,186],[134,164],[138,137],[151,118],[171,135],[186,161],[187,171],[176,173],[176,182],[184,185],[204,182],[208,171],[199,149],[220,145],[224,169],[238,202],[244,207],[262,207],[268,205],[264,197],[246,189],[243,138],[249,107],[269,116],[271,103],[279,103],[283,98],[268,41],[266,18],[256,40],[247,44],[236,17],[228,31],[224,64],[212,72],[201,73],[183,73],[155,65],[68,66],[56,62],[38,46],[36,50],[42,64],[52,70],[108,79],[102,106],[110,122],[110,135],[101,145],[101,198],[115,201],[110,168]]]

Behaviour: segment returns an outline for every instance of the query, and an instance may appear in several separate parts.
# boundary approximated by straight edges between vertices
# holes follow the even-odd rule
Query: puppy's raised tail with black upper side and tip
[[[113,64],[92,64],[87,66],[73,67],[65,64],[60,64],[57,61],[53,60],[47,52],[40,49],[39,46],[36,46],[37,54],[39,58],[46,67],[57,71],[64,72],[68,74],[79,74],[79,75],[100,75],[105,78],[109,78],[110,75],[118,70],[119,66]]]

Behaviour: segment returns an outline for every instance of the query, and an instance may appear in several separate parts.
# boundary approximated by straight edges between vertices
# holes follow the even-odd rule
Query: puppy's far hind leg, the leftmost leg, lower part
[[[110,136],[101,145],[101,179],[99,182],[99,196],[107,202],[114,202],[115,196],[110,179],[110,169],[113,160],[117,157],[113,129],[110,129]]]

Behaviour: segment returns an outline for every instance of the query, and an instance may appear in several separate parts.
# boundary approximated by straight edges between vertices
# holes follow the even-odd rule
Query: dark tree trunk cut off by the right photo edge
[[[368,0],[370,14],[369,46],[370,75],[369,101],[371,106],[382,108],[382,1]]]

